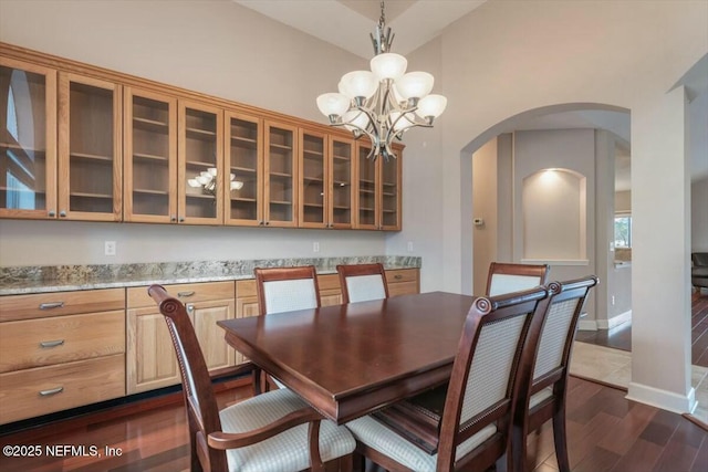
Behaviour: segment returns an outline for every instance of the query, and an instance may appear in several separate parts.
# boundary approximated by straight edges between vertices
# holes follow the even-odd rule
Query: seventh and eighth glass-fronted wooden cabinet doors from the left
[[[354,141],[300,128],[301,228],[352,228]]]

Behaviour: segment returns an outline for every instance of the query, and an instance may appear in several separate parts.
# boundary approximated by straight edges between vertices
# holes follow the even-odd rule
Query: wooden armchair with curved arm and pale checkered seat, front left
[[[160,285],[148,294],[165,316],[183,378],[192,471],[352,470],[355,440],[291,390],[274,390],[219,411],[185,305]],[[329,464],[327,464],[329,465]]]

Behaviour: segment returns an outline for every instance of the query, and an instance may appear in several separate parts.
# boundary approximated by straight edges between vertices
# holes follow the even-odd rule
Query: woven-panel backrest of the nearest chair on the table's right
[[[548,292],[538,286],[490,298],[475,300],[467,315],[455,358],[438,444],[437,470],[473,464],[489,466],[509,447],[513,408],[520,390],[516,378],[529,344],[537,343],[548,308]],[[483,429],[493,434],[461,455],[457,448]],[[485,452],[480,452],[480,448]],[[461,451],[462,452],[462,451]]]

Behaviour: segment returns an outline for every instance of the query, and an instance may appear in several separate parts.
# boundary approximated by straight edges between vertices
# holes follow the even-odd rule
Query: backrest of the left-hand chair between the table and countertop
[[[253,272],[261,315],[320,307],[314,265],[256,268]]]

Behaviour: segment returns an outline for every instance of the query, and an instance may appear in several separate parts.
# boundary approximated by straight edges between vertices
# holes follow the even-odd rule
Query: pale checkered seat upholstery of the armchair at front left
[[[308,405],[291,390],[273,390],[230,406],[219,412],[225,432],[247,432],[273,422]],[[356,443],[345,427],[322,420],[320,454],[324,462],[354,451]],[[239,449],[227,451],[229,471],[288,472],[310,468],[308,424]]]

